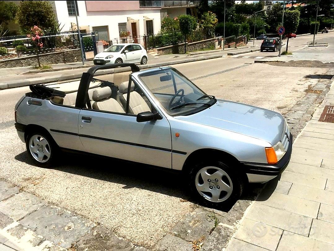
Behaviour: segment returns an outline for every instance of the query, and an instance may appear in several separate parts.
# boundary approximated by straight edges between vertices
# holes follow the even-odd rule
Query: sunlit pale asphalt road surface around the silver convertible
[[[296,46],[309,40],[308,36],[298,39],[292,40]],[[307,76],[327,71],[253,62],[252,58],[221,57],[174,67],[208,94],[282,113],[318,81]],[[0,178],[147,247],[191,211],[186,182],[145,165],[64,154],[59,166],[34,166],[13,126],[15,103],[26,92],[28,87],[0,91]]]

